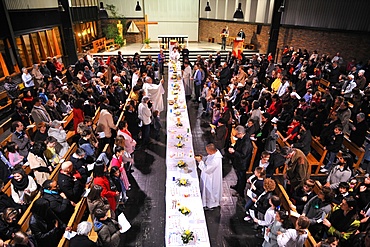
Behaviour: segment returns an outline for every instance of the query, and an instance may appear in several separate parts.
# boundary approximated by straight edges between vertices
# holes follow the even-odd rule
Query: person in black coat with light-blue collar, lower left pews
[[[49,208],[52,212],[58,215],[64,224],[67,224],[69,218],[72,216],[74,203],[68,200],[63,192],[58,192],[57,181],[46,180],[42,184],[41,194],[42,198],[49,203]]]

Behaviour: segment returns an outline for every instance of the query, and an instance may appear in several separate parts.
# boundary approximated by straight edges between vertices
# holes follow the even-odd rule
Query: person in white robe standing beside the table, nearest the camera
[[[207,157],[204,161],[201,156],[196,156],[199,162],[200,191],[205,210],[213,210],[220,206],[222,198],[222,154],[213,143],[206,146]]]

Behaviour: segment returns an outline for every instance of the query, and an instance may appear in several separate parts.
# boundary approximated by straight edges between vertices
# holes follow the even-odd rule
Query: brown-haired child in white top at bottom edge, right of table
[[[279,246],[297,247],[304,246],[307,239],[307,228],[310,221],[305,216],[300,216],[295,224],[295,229],[288,229],[285,233],[277,232],[277,243]]]

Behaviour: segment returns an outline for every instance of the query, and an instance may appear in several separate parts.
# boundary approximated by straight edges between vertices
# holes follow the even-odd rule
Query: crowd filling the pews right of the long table
[[[306,217],[302,226],[317,242],[325,238],[322,246],[332,242],[349,246],[370,229],[369,205],[365,202],[370,179],[364,178],[370,171],[370,62],[352,62],[346,67],[339,53],[309,54],[293,47],[284,49],[279,62],[274,64],[258,54],[251,59],[230,54],[221,64],[201,57],[196,61],[202,84],[201,92],[192,95],[200,95],[201,99],[194,101],[202,102],[199,106],[203,116],[210,116],[209,122],[214,125],[209,141],[221,144],[218,148],[235,170],[236,185],[230,187],[235,190],[233,196],[246,203],[245,220],[274,234],[273,242],[265,241],[263,246],[277,246],[279,235],[286,234],[276,233],[273,218],[280,222],[279,226],[283,223],[279,203],[269,201],[262,187],[266,179],[274,176],[275,169],[282,171],[284,165],[282,184],[291,195],[291,208]],[[329,83],[320,84],[320,79]],[[356,145],[357,150],[363,149],[364,158],[351,153],[345,140]],[[310,174],[314,167],[307,158],[318,157],[312,141],[327,151],[317,177]],[[246,179],[252,142],[257,147],[252,164],[255,172],[252,179]],[[314,179],[323,184],[317,195]],[[267,210],[279,214],[269,214],[268,219],[267,214],[257,214]]]

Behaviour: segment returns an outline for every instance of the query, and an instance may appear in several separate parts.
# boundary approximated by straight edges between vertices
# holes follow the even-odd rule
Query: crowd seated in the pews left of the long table
[[[31,72],[26,70],[23,97],[13,95],[16,114],[11,141],[1,150],[1,188],[10,181],[10,196],[5,191],[0,195],[0,239],[10,239],[15,246],[57,246],[63,232],[71,230],[67,224],[74,207],[93,183],[88,208],[95,219],[98,242],[118,246],[121,238],[116,220],[129,200],[126,191],[131,189],[128,177],[134,171],[136,144],[143,144],[139,105],[150,115],[155,110],[142,87],[159,83],[157,61],[136,53],[127,58],[111,56],[104,62],[87,54],[65,72],[56,58],[36,64]],[[11,79],[8,81],[10,85]],[[73,123],[66,124],[63,120],[70,114]],[[34,133],[29,131],[32,125],[37,128]],[[149,140],[149,136],[145,138]],[[77,149],[64,160],[72,144]],[[112,162],[112,157],[102,153],[106,144]],[[57,178],[50,177],[55,172]],[[32,235],[27,235],[17,223],[31,203]],[[89,224],[81,223],[71,246],[84,242],[96,246],[85,239],[92,229]]]

